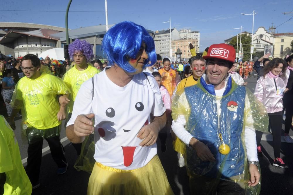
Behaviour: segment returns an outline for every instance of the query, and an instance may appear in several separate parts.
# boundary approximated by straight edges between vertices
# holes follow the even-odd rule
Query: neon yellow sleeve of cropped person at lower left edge
[[[10,137],[7,136],[7,131],[12,131],[9,129],[5,122],[4,118],[0,117],[0,173],[13,170],[12,158],[10,155],[10,150],[8,143],[11,142]],[[13,141],[14,142],[14,141]]]

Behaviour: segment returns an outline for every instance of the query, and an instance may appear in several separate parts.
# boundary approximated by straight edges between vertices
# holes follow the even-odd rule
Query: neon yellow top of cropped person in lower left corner
[[[4,195],[31,194],[32,184],[23,168],[17,140],[2,115],[0,129],[0,173],[6,174]]]

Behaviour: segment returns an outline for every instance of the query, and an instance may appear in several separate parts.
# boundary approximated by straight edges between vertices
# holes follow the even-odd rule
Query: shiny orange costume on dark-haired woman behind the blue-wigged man
[[[163,72],[166,72],[165,76],[163,76]],[[170,96],[172,96],[176,88],[176,71],[174,71],[173,69],[169,69],[169,71],[166,71],[164,68],[162,68],[159,70],[159,73],[162,76],[162,85],[166,87]]]

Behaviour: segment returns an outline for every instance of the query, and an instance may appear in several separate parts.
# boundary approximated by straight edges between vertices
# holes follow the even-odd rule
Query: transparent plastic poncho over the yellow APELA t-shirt
[[[43,72],[36,79],[23,77],[18,81],[11,106],[21,109],[23,141],[32,143],[35,136],[59,136],[62,121],[57,119],[60,110],[57,95],[69,93],[69,88],[60,78]]]

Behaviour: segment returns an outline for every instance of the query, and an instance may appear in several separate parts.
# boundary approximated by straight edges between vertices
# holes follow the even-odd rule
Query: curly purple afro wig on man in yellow
[[[86,40],[76,39],[74,42],[69,44],[68,52],[71,60],[73,60],[73,54],[75,52],[82,52],[86,56],[86,62],[89,62],[94,58],[93,46]]]

